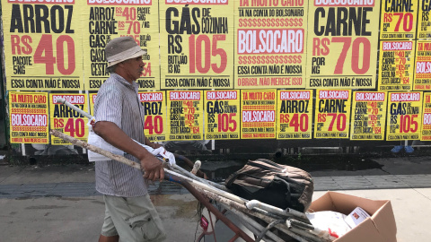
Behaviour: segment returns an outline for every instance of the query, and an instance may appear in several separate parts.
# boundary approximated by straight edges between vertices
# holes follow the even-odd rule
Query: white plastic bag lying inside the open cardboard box
[[[347,216],[340,212],[321,211],[306,213],[306,215],[314,228],[324,232],[324,234],[321,234],[324,238],[335,240],[350,230],[344,220]]]

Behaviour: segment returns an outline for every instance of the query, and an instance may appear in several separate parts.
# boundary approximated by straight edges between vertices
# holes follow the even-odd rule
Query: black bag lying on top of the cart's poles
[[[249,160],[226,179],[226,187],[247,200],[299,212],[308,210],[314,191],[308,172],[266,159]]]

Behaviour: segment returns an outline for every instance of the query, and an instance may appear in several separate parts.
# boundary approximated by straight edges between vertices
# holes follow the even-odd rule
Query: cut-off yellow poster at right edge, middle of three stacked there
[[[418,40],[413,90],[431,90],[431,41]]]

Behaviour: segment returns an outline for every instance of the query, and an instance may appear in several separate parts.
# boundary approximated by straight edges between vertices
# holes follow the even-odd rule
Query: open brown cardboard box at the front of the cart
[[[361,207],[371,215],[337,242],[396,242],[397,225],[391,201],[370,200],[354,195],[327,192],[312,202],[309,212],[334,211],[349,214]]]

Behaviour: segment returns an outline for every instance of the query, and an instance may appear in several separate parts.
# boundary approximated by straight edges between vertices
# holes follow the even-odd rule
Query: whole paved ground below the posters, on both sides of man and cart
[[[313,199],[327,190],[391,200],[401,242],[428,241],[431,231],[431,159],[376,160],[382,169],[312,172]],[[195,241],[196,199],[169,182],[150,187],[169,233],[166,241]],[[0,166],[2,241],[97,241],[104,204],[94,189],[92,165]]]

